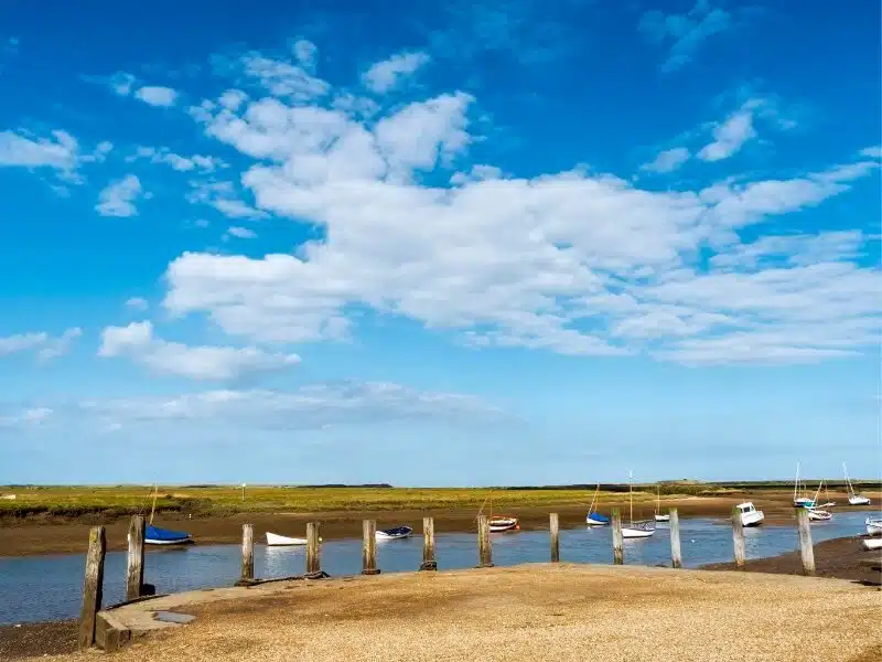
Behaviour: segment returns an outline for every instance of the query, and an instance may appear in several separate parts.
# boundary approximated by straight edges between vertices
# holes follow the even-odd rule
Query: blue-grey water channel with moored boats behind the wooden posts
[[[863,532],[867,512],[840,510],[829,522],[811,525],[815,542]],[[625,563],[665,565],[670,563],[670,531],[660,525],[655,535],[626,540]],[[795,524],[744,530],[749,558],[774,556],[797,548]],[[508,566],[548,560],[550,545],[545,531],[493,534],[493,563]],[[680,520],[680,544],[686,567],[731,560],[732,531],[720,520]],[[440,570],[477,565],[474,533],[439,534],[435,556]],[[322,569],[332,577],[354,575],[362,569],[361,540],[322,543]],[[560,557],[573,563],[612,563],[610,527],[584,527],[560,532]],[[239,576],[238,545],[193,545],[181,549],[149,552],[144,581],[158,592],[230,586]],[[422,562],[422,536],[384,541],[377,545],[377,563],[384,573],[417,570]],[[79,611],[83,555],[0,558],[0,624],[73,618]],[[258,577],[300,575],[305,569],[305,547],[255,547]],[[105,563],[105,605],[122,599],[126,555],[111,552]]]

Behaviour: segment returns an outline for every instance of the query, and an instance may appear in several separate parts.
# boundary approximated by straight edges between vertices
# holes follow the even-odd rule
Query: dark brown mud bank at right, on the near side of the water
[[[862,564],[863,559],[882,560],[879,552],[867,552],[860,537],[835,538],[815,545],[815,567],[818,577],[849,579],[869,586],[880,586],[880,574]],[[716,563],[702,566],[706,570],[733,570],[734,563]],[[752,573],[776,575],[802,575],[803,560],[799,552],[788,552],[781,556],[747,560],[744,569]]]

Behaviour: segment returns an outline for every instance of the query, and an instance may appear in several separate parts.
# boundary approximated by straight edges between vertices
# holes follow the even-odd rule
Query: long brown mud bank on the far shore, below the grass
[[[731,496],[686,496],[663,499],[662,508],[676,506],[680,515],[728,517],[732,505],[741,501],[752,500],[757,508],[764,510],[766,522],[785,524],[794,521],[789,492],[767,491],[756,494],[734,494]],[[619,506],[627,516],[627,501],[605,501],[600,508],[603,513]],[[635,503],[634,515],[652,516],[654,503]],[[548,527],[548,513],[560,515],[561,527],[571,528],[584,525],[587,504],[569,506],[537,506],[506,509],[506,514],[520,519],[523,530],[545,530]],[[185,515],[157,515],[154,524],[169,528],[184,530],[191,533],[198,544],[235,544],[241,541],[241,525],[254,524],[255,536],[263,540],[267,531],[282,535],[304,536],[306,522],[322,523],[322,537],[326,540],[359,537],[362,520],[374,519],[377,526],[398,526],[408,524],[420,531],[422,517],[434,517],[437,533],[454,533],[475,531],[476,511],[472,509],[448,510],[401,510],[394,512],[346,511],[325,513],[245,513],[229,516],[187,517]],[[126,548],[128,519],[96,522],[34,522],[32,520],[7,519],[0,521],[0,556],[31,556],[39,554],[72,554],[85,552],[89,526],[101,523],[107,526],[107,546],[110,551]]]

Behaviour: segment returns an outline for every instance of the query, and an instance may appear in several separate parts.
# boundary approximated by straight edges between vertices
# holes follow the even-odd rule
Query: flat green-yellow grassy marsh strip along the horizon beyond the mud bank
[[[831,489],[836,484],[831,485]],[[863,483],[879,489],[880,483]],[[638,501],[654,498],[656,485],[635,485]],[[778,482],[739,483],[662,483],[663,494],[727,495],[742,491],[787,490]],[[621,500],[627,485],[601,485],[600,500]],[[126,516],[151,506],[152,488],[115,487],[43,487],[8,485],[0,494],[14,494],[14,500],[0,499],[0,517],[100,515]],[[587,504],[593,487],[562,488],[493,488],[493,505],[498,512],[506,506],[545,506]],[[239,512],[314,513],[340,511],[399,511],[480,509],[491,493],[490,488],[391,488],[391,487],[280,487],[254,485],[243,491],[235,485],[189,485],[158,489],[158,512],[183,512],[194,515],[228,515]]]

